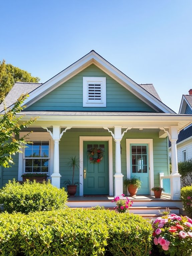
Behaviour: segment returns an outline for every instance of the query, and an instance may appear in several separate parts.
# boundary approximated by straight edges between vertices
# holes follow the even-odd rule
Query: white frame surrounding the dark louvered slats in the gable
[[[101,84],[101,100],[88,100],[88,84]],[[106,77],[83,77],[83,107],[106,107]]]

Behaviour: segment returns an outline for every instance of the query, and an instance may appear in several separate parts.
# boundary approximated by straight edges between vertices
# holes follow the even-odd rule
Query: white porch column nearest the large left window
[[[59,141],[60,141],[60,126],[53,125],[53,140],[54,140],[54,155],[53,155],[53,173],[51,174],[51,184],[60,188],[59,173]]]

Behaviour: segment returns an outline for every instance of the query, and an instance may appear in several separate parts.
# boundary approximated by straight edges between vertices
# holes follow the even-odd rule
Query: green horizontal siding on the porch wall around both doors
[[[67,131],[63,134],[59,143],[59,171],[61,174],[61,187],[64,186],[63,181],[72,178],[72,169],[67,165],[70,156],[79,157],[79,136],[111,136],[111,133],[104,131],[98,132],[97,129],[75,129],[76,131]],[[126,159],[126,139],[153,139],[153,157],[154,157],[154,185],[159,185],[159,172],[169,173],[169,157],[167,138],[159,138],[158,133],[131,133],[124,135],[121,146],[121,164],[124,178],[127,177],[127,159]],[[15,164],[12,168],[1,167],[1,186],[5,185],[9,179],[18,179],[18,154],[13,156]],[[115,142],[113,140],[113,174],[115,174]],[[79,181],[79,170],[75,169],[74,181]],[[124,187],[124,194],[127,191]],[[79,186],[77,186],[77,196],[79,195]]]

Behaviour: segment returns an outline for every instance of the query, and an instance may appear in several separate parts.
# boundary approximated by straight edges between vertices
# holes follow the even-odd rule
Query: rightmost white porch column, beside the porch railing
[[[177,126],[171,126],[169,128],[170,141],[171,141],[171,165],[172,172],[170,174],[170,182],[171,182],[171,199],[172,200],[180,200],[181,197],[181,175],[178,172],[177,165],[177,139],[178,132]]]

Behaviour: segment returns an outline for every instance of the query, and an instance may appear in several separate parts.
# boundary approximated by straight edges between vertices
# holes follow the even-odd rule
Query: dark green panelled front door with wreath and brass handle
[[[103,158],[99,163],[91,163],[91,148],[101,148]],[[108,141],[83,142],[83,195],[109,195],[109,144]],[[98,154],[93,155],[98,158]]]

